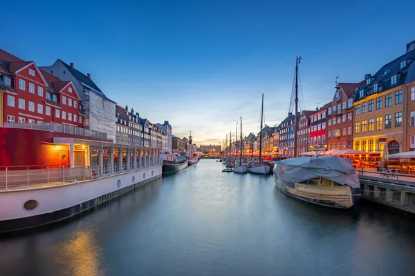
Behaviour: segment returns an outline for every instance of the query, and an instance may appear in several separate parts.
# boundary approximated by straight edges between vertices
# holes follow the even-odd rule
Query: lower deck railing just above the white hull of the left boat
[[[150,160],[136,164],[104,164],[103,166],[75,166],[51,164],[41,166],[0,167],[0,191],[21,188],[41,188],[62,184],[82,183],[87,180],[109,177],[124,172],[162,166],[162,160]]]

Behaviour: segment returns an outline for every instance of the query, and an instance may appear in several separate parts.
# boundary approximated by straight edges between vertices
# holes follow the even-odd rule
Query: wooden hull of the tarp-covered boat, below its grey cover
[[[284,184],[274,175],[275,187],[291,197],[326,207],[347,209],[353,206],[350,186],[315,186],[295,183],[293,187]]]

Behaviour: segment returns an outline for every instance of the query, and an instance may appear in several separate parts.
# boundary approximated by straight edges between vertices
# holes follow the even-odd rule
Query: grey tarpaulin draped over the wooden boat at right
[[[351,166],[351,160],[336,156],[285,159],[275,164],[274,173],[277,177],[291,183],[324,177],[338,184],[360,188],[359,177]]]

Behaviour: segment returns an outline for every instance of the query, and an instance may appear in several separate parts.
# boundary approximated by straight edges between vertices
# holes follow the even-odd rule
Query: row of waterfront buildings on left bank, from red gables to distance
[[[0,49],[0,126],[56,123],[107,135],[118,144],[172,152],[169,121],[153,124],[122,108],[74,63],[37,66]]]

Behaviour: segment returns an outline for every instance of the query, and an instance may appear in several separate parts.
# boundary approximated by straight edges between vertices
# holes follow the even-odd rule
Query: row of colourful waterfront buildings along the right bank
[[[262,152],[293,157],[295,115],[266,126]],[[317,110],[297,113],[297,155],[314,145],[326,150],[355,149],[389,154],[415,150],[415,41],[405,54],[386,63],[374,75],[356,83],[336,83],[333,99]],[[243,139],[243,151],[259,152],[259,133]],[[239,150],[234,141],[225,150]]]

